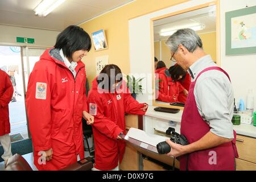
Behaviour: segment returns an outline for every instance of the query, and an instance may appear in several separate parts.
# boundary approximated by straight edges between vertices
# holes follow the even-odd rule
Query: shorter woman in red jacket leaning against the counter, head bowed
[[[144,115],[147,104],[139,104],[122,82],[117,65],[106,65],[92,83],[88,94],[89,113],[94,115],[94,170],[118,170],[125,152],[125,113]],[[119,161],[119,163],[118,163]]]

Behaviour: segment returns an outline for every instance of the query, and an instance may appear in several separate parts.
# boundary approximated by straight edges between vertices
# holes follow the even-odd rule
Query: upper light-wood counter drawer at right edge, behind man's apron
[[[236,140],[239,159],[256,163],[256,139],[237,135]]]

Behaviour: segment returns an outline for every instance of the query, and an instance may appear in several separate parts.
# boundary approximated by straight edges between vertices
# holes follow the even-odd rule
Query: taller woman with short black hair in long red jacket
[[[82,117],[89,123],[85,95],[85,65],[90,36],[69,26],[35,64],[27,86],[26,108],[34,164],[39,170],[59,170],[84,158]],[[46,161],[47,160],[47,161]]]

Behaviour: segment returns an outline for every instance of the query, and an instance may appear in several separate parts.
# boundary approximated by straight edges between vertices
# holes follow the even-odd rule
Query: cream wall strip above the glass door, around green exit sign
[[[59,33],[60,31],[6,26],[0,24],[0,43],[13,43],[24,46],[23,43],[16,43],[16,37],[19,36],[35,39],[35,44],[27,44],[28,46],[54,46],[56,37]]]

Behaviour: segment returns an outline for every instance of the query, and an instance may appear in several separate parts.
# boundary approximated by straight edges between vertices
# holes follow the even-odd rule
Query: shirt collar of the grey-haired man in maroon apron
[[[192,80],[194,81],[197,77],[197,75],[207,67],[210,63],[214,63],[212,60],[212,57],[210,55],[206,55],[201,57],[199,60],[197,60],[195,63],[193,63],[189,68],[188,68],[188,73],[191,76]]]

